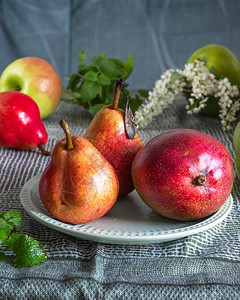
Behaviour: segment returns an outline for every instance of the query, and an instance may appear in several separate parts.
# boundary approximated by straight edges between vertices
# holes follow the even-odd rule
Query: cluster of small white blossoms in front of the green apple
[[[188,63],[183,70],[167,70],[156,81],[148,101],[135,112],[135,120],[140,128],[146,127],[154,117],[185,92],[189,95],[186,109],[188,113],[199,113],[206,107],[210,97],[218,99],[219,117],[223,129],[231,129],[240,109],[240,92],[237,85],[231,85],[227,78],[217,80],[199,60]]]

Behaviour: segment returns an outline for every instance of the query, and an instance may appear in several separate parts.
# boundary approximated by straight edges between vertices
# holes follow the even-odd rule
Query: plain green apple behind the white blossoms
[[[188,63],[193,63],[196,59],[203,61],[217,79],[226,77],[231,84],[240,85],[240,61],[228,48],[217,44],[206,45],[195,51]],[[201,114],[208,117],[218,117],[218,100],[210,97]]]

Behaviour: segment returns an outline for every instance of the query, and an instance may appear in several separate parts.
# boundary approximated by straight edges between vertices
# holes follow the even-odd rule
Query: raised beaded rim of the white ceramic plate
[[[42,173],[39,173],[29,179],[22,187],[20,191],[20,202],[24,208],[24,210],[37,222],[51,228],[57,230],[59,232],[65,233],[67,235],[75,236],[81,239],[86,239],[94,242],[99,243],[107,243],[107,244],[128,244],[128,245],[138,245],[138,244],[149,244],[149,243],[163,243],[167,241],[181,239],[190,235],[194,235],[197,233],[201,233],[209,228],[212,228],[223,221],[231,212],[233,206],[233,198],[230,194],[221,208],[212,214],[211,216],[205,218],[204,220],[200,220],[198,223],[194,223],[192,225],[181,227],[178,229],[169,229],[163,230],[165,233],[159,233],[155,235],[113,235],[113,234],[99,234],[96,232],[81,232],[81,227],[88,226],[87,224],[79,224],[79,225],[72,225],[68,223],[61,222],[55,219],[53,216],[49,217],[45,215],[43,212],[39,212],[39,209],[34,205],[32,198],[31,198],[31,191],[35,184],[37,184],[40,180]],[[25,199],[27,196],[27,199]],[[37,210],[33,212],[29,208],[29,204],[27,201],[30,201],[30,204],[34,206]],[[41,199],[39,198],[39,201]],[[45,217],[44,219],[40,217],[39,214],[43,214]],[[104,217],[104,216],[103,216]],[[51,220],[48,222],[45,219]],[[94,221],[92,221],[94,222]],[[92,223],[90,222],[90,223]],[[186,222],[187,223],[187,222]],[[76,228],[78,229],[76,231]],[[80,230],[80,231],[79,231]]]

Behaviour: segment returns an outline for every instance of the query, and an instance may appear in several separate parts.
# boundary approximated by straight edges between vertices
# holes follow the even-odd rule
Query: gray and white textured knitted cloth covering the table
[[[188,115],[185,100],[165,109],[139,135],[147,142],[173,128],[211,134],[229,150],[235,164],[233,131],[223,132],[216,120]],[[64,137],[65,119],[73,135],[82,136],[91,116],[62,102],[44,124],[52,150]],[[0,263],[0,299],[240,299],[239,177],[232,190],[233,208],[220,224],[176,241],[148,245],[112,245],[82,240],[41,225],[22,208],[23,185],[42,172],[50,157],[38,151],[0,148],[1,210],[23,213],[21,231],[47,245],[47,261],[33,268],[14,268],[12,253]],[[234,165],[235,166],[235,165]]]

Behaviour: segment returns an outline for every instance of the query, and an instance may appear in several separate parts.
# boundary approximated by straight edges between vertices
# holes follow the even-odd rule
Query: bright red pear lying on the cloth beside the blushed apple
[[[47,140],[34,100],[16,91],[0,93],[0,146],[31,150]]]

